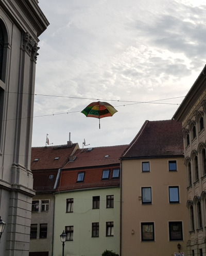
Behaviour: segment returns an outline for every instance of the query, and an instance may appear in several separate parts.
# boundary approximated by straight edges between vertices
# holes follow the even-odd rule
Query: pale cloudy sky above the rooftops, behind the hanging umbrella
[[[173,117],[206,64],[206,5],[198,0],[39,0],[32,146],[129,144],[145,120]],[[86,117],[93,101],[112,117]]]

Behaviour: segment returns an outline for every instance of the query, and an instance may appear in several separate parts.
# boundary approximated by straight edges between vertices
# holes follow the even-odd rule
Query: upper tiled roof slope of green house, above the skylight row
[[[128,145],[94,147],[91,151],[88,151],[88,148],[77,149],[74,154],[76,159],[73,162],[68,162],[63,169],[103,167],[119,163],[119,158],[127,147]]]

